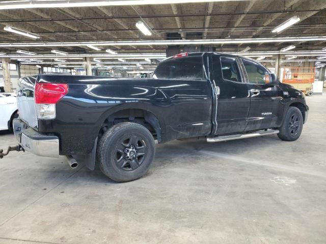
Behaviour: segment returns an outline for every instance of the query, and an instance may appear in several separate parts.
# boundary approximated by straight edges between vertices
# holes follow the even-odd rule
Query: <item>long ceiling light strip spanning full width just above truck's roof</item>
[[[326,41],[326,36],[278,37],[278,38],[237,38],[237,39],[197,39],[197,40],[132,40],[132,41],[96,41],[96,42],[16,42],[0,43],[0,47],[74,47],[74,46],[160,46],[160,45],[214,45],[244,43],[280,43]],[[67,53],[66,53],[67,54]]]

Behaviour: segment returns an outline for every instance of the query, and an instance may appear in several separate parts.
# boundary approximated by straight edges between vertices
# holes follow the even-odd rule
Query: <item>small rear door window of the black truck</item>
[[[223,79],[241,82],[240,72],[234,57],[221,57]]]

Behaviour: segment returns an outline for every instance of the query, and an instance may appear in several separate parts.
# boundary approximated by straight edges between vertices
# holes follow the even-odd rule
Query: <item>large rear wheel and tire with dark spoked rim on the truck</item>
[[[97,146],[101,171],[118,182],[138,179],[146,174],[155,156],[155,141],[144,126],[119,123],[108,129]]]

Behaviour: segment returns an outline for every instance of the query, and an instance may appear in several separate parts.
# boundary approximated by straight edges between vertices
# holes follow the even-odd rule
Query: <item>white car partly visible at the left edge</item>
[[[12,120],[18,117],[16,96],[0,93],[0,131],[12,130]]]

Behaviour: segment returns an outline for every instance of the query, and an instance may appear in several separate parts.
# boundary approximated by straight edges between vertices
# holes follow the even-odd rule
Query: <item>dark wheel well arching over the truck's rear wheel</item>
[[[122,122],[140,124],[152,133],[154,139],[157,139],[158,142],[161,141],[161,127],[158,118],[151,112],[143,109],[124,109],[110,114],[104,120],[98,137],[101,138],[110,127]]]

